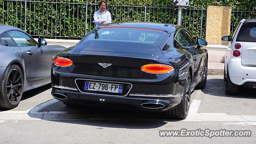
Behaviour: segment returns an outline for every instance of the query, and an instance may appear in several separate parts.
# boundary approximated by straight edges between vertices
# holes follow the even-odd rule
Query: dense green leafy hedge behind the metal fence
[[[26,3],[26,22],[25,22],[25,2],[0,0],[0,24],[17,26],[42,38],[66,38],[80,39],[88,32],[94,29],[93,14],[98,10],[98,1],[95,0],[40,0],[45,3],[27,2]],[[52,4],[47,2],[68,2],[78,4]],[[84,5],[82,5],[84,4]],[[86,19],[86,5],[87,19]],[[108,10],[112,13],[112,22],[119,21],[146,21],[164,22],[177,24],[177,6],[172,6],[172,0],[108,0]],[[110,6],[112,5],[112,6]],[[142,6],[134,9],[126,6]],[[207,5],[232,6],[233,10],[252,11],[256,9],[255,0],[190,0],[189,7],[183,8],[203,8]],[[154,14],[152,8],[146,9],[145,6],[163,7],[155,8]],[[3,9],[4,7],[4,9]],[[168,9],[172,8],[172,9]],[[138,10],[138,12],[137,12]],[[193,13],[193,15],[189,15]],[[242,18],[255,18],[256,14],[252,12],[232,12],[231,34],[236,24]],[[203,20],[201,21],[201,17]],[[202,38],[205,36],[206,11],[204,10],[183,10],[182,25],[193,34],[194,38],[200,38],[202,29]],[[87,23],[86,23],[87,20]],[[202,25],[202,27],[201,27]],[[48,37],[46,37],[48,36]]]

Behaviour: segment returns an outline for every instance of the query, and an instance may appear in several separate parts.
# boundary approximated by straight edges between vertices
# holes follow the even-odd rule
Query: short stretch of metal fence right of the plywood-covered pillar
[[[242,19],[256,18],[256,7],[232,7],[230,34]]]

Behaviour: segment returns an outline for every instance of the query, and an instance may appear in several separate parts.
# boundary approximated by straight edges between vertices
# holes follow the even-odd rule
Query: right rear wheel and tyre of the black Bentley
[[[176,118],[176,119],[185,119],[188,116],[190,102],[191,102],[191,76],[190,76],[190,72],[188,72],[183,98],[180,104],[178,105],[178,107],[167,111],[167,117]]]

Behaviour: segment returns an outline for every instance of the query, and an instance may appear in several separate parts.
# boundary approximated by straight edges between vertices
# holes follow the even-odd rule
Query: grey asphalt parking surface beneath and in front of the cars
[[[208,76],[206,88],[193,90],[185,120],[162,113],[83,106],[68,108],[53,99],[50,85],[24,93],[12,110],[0,109],[0,144],[63,143],[227,143],[255,144],[255,89],[224,93],[223,76]],[[250,137],[160,137],[159,130],[250,130]]]

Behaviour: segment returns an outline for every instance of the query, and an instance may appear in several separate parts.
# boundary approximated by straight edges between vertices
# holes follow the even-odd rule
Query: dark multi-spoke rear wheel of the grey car
[[[17,65],[11,65],[0,88],[0,107],[15,108],[18,106],[23,91],[23,74]]]

